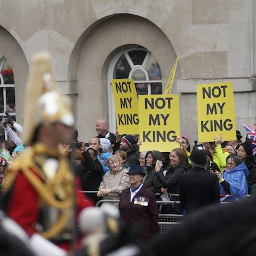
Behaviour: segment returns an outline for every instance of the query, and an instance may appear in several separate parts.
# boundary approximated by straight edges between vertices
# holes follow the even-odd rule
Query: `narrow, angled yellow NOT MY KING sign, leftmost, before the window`
[[[138,134],[138,97],[133,79],[112,79],[119,134]]]

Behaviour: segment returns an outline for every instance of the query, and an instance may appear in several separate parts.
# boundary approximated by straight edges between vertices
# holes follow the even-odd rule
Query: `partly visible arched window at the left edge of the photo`
[[[12,66],[4,57],[0,54],[0,118],[4,117],[5,112],[8,112],[15,120],[15,84],[14,73],[12,72]],[[0,121],[1,121],[0,120]],[[0,138],[7,139],[2,130],[0,131]]]

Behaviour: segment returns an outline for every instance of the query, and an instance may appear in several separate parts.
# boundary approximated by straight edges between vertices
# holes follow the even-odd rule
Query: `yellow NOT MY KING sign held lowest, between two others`
[[[172,151],[180,145],[180,106],[178,95],[138,95],[140,151]]]

